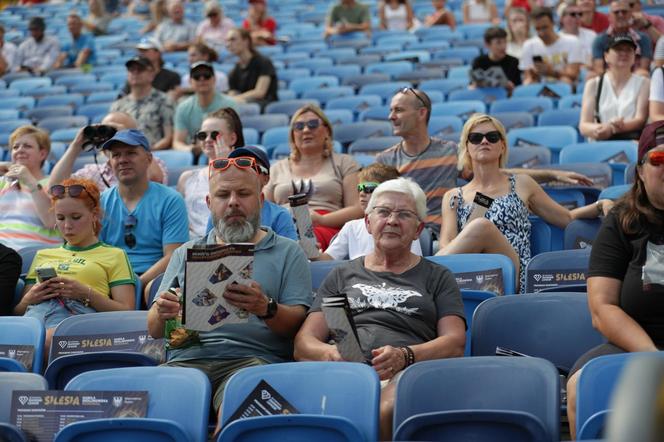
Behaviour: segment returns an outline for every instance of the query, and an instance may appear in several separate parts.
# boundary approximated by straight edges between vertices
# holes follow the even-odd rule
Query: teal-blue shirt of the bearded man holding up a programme
[[[263,228],[267,235],[259,241],[254,251],[253,279],[260,284],[263,293],[279,304],[311,306],[311,273],[309,263],[300,246],[288,238]],[[167,291],[177,277],[184,287],[184,263],[187,249],[194,245],[216,244],[216,235],[189,241],[178,247],[168,263],[159,286],[159,293]],[[155,297],[157,299],[159,294]],[[250,315],[249,322],[225,324],[210,332],[199,332],[202,345],[168,352],[168,360],[190,359],[241,359],[257,357],[268,362],[284,362],[293,359],[293,339],[274,333],[265,321]]]

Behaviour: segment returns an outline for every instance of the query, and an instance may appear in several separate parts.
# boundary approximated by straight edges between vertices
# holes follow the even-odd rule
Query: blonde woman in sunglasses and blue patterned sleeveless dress
[[[530,213],[564,229],[577,218],[606,214],[613,203],[568,210],[549,197],[528,175],[507,175],[507,134],[496,118],[476,114],[466,121],[459,142],[459,168],[473,172],[463,187],[443,197],[438,255],[500,253],[514,262],[521,291],[530,261]]]

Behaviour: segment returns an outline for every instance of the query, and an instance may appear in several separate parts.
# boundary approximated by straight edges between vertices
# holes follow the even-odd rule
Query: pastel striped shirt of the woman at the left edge
[[[48,178],[44,178],[40,184],[45,186],[47,182]],[[62,243],[57,230],[42,224],[30,192],[15,185],[10,187],[4,179],[0,180],[0,242],[17,251]]]

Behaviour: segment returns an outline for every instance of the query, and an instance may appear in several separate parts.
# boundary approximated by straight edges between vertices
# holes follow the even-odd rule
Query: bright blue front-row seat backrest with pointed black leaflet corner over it
[[[365,440],[378,439],[380,384],[376,371],[353,362],[293,362],[245,368],[224,390],[222,426],[261,380],[300,413],[350,419]]]

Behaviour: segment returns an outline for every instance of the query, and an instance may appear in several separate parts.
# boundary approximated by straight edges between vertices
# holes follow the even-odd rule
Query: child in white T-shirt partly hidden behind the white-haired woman
[[[392,166],[374,163],[362,169],[358,174],[360,205],[362,210],[367,209],[371,193],[380,183],[399,178],[399,172]],[[332,239],[330,246],[318,260],[355,259],[373,251],[374,241],[364,225],[364,218],[348,221],[339,233]],[[413,241],[411,251],[422,255],[419,241]]]

